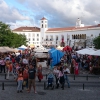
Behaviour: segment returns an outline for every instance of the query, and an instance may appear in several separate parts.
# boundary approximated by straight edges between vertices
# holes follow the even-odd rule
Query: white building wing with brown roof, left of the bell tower
[[[40,34],[40,28],[38,27],[19,27],[17,29],[13,30],[14,33],[22,34],[26,36],[27,39],[27,45],[34,45],[35,47],[40,46],[41,42],[41,34]]]

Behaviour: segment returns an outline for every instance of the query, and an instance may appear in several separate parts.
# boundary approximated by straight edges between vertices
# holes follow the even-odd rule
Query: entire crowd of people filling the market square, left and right
[[[29,52],[27,54],[11,55],[10,53],[1,54],[0,56],[0,73],[6,73],[6,79],[9,79],[9,74],[14,76],[17,81],[17,93],[22,93],[22,86],[26,87],[26,91],[31,91],[31,86],[33,86],[34,93],[35,79],[41,82],[43,79],[42,65],[37,66],[38,59],[34,56],[34,53]],[[47,58],[47,69],[50,68],[53,59],[50,56]],[[68,88],[70,88],[70,82],[68,79],[68,74],[79,74],[80,70],[87,70],[89,73],[93,73],[94,67],[100,67],[100,57],[98,56],[88,56],[79,55],[75,51],[64,51],[64,56],[61,61],[54,66],[52,71],[47,76],[48,85],[49,83],[56,80],[56,88],[64,89],[65,81],[67,81]],[[52,81],[50,80],[52,79]]]

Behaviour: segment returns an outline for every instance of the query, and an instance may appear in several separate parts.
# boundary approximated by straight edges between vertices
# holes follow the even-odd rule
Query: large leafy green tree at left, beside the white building
[[[26,36],[13,33],[9,25],[0,22],[0,46],[19,47],[26,45]]]

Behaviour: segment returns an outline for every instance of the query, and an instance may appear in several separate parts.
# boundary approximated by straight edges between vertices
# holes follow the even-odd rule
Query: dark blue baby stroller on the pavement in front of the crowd
[[[44,89],[49,89],[51,88],[52,90],[54,89],[54,75],[52,73],[49,73],[47,75],[47,82],[44,82]]]

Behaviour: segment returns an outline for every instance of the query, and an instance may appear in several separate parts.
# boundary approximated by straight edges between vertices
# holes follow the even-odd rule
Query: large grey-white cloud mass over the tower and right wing
[[[99,0],[27,0],[26,3],[36,13],[37,22],[45,16],[52,27],[75,26],[77,18],[86,25],[100,21]]]

